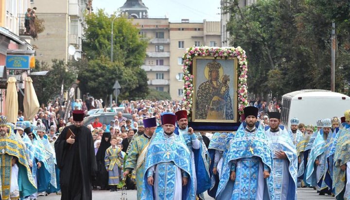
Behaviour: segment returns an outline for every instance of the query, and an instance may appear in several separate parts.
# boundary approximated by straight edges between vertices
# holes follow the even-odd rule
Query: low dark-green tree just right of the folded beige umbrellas
[[[46,104],[49,100],[60,96],[62,80],[64,80],[64,91],[67,91],[76,80],[76,70],[67,66],[64,60],[53,59],[52,66],[43,61],[36,61],[33,72],[40,71],[49,71],[45,76],[31,76],[40,104]]]

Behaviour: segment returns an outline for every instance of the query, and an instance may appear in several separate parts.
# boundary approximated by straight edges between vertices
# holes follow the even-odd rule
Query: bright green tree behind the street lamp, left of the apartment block
[[[104,10],[86,16],[87,28],[83,51],[87,60],[79,66],[79,88],[95,98],[106,99],[113,93],[116,80],[121,85],[118,99],[140,99],[148,94],[147,75],[140,68],[148,41],[140,38],[139,29],[123,17],[114,20],[113,62],[110,61],[112,19]]]

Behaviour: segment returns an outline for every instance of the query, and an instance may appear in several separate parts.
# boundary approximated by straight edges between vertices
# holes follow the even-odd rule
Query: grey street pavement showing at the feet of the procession
[[[126,191],[128,200],[137,200],[136,190]],[[123,200],[122,191],[109,192],[109,191],[92,191],[92,200]],[[61,196],[56,194],[50,194],[47,197],[39,197],[37,200],[60,200]],[[214,200],[208,195],[205,196],[206,200]],[[331,196],[319,196],[316,190],[312,188],[298,188],[297,190],[297,200],[333,200]],[[126,198],[125,198],[126,200]]]

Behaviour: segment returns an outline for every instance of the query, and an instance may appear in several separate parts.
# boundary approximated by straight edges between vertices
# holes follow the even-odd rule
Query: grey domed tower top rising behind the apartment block
[[[148,8],[142,0],[126,0],[120,9],[128,18],[148,18]]]

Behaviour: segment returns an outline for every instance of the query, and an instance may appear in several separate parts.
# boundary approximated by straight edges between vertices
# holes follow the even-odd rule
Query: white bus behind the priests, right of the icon
[[[290,128],[290,119],[299,123],[316,125],[318,119],[342,117],[350,109],[350,97],[326,90],[301,90],[282,96],[281,123]]]

